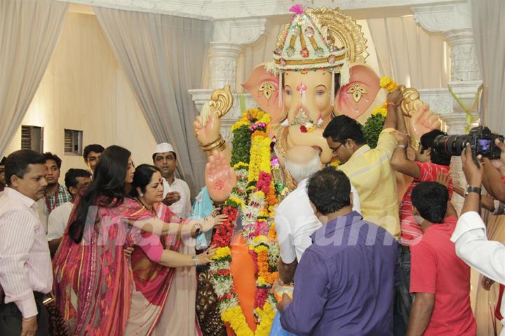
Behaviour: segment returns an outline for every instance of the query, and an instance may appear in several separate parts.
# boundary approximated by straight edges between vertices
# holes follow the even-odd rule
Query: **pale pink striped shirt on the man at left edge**
[[[0,196],[0,285],[5,302],[14,302],[24,318],[37,314],[33,292],[49,293],[53,286],[36,202],[8,187]]]

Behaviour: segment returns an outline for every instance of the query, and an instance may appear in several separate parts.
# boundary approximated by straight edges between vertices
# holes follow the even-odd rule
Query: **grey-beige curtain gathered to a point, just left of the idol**
[[[188,90],[201,88],[212,22],[94,7],[157,142],[170,142],[191,194],[205,184]],[[153,149],[146,148],[152,152]]]

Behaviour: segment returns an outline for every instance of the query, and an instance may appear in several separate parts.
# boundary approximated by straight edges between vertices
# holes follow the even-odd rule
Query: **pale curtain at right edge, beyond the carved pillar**
[[[484,82],[482,121],[505,133],[505,1],[471,1],[473,36]]]

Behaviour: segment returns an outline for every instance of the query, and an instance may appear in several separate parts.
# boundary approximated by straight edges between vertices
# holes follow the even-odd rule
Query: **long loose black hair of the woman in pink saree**
[[[76,217],[69,227],[69,236],[75,243],[82,241],[90,206],[114,208],[123,203],[130,155],[128,149],[110,146],[100,156],[93,181],[81,196],[76,206]],[[97,204],[99,200],[100,204]]]

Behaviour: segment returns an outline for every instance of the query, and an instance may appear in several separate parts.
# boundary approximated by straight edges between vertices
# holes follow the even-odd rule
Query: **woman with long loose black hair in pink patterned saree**
[[[130,313],[133,274],[123,248],[140,241],[141,230],[196,234],[222,218],[187,224],[163,222],[126,197],[135,168],[130,152],[105,149],[90,187],[76,200],[53,259],[56,303],[72,335],[123,335]]]

